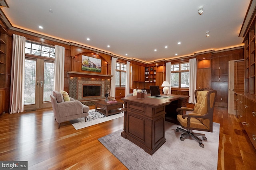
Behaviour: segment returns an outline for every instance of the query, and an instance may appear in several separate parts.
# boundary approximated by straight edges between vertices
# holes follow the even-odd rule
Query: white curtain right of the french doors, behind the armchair
[[[64,90],[64,59],[65,59],[65,48],[59,45],[55,45],[53,89],[58,92],[60,92],[61,90]]]

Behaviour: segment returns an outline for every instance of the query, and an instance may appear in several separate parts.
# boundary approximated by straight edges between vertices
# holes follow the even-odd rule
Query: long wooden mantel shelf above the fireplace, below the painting
[[[86,78],[104,78],[111,79],[113,75],[109,74],[96,74],[96,73],[88,73],[88,72],[77,72],[77,71],[67,71],[68,77],[86,77]]]

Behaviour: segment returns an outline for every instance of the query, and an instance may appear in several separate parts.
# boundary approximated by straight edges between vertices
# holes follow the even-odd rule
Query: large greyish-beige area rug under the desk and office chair
[[[176,124],[165,122],[166,142],[152,155],[121,137],[122,129],[98,139],[129,170],[216,170],[220,124],[213,124],[213,132],[203,132],[204,148],[190,137],[180,141],[182,133],[175,132]],[[202,131],[194,131],[202,133]]]

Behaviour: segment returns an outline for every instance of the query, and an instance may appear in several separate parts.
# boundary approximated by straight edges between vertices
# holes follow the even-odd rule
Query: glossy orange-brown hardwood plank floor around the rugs
[[[214,122],[220,123],[218,170],[256,169],[256,150],[239,119],[228,115],[227,108],[215,107]],[[122,128],[122,117],[75,130],[69,122],[58,129],[52,109],[4,113],[0,115],[0,160],[28,161],[32,170],[126,169],[98,141]]]

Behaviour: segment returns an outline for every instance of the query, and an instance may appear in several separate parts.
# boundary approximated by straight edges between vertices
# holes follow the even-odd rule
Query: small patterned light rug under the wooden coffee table
[[[121,110],[120,113],[110,115],[108,117],[106,117],[106,115],[103,115],[102,113],[99,113],[98,111],[95,111],[95,109],[91,109],[88,113],[89,115],[86,117],[86,121],[84,121],[84,117],[70,121],[70,123],[74,126],[76,130],[124,116],[124,113]]]

